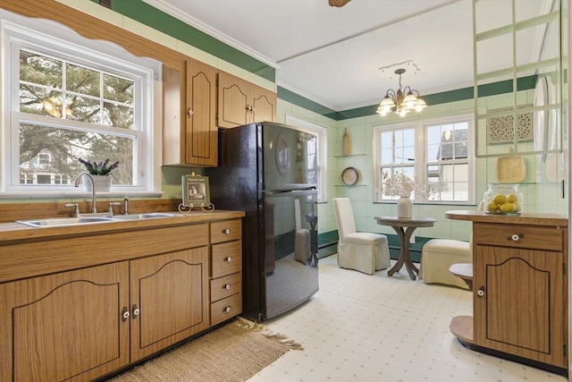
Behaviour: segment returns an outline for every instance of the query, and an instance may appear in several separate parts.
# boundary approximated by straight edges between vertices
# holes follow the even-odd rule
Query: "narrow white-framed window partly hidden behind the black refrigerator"
[[[286,124],[296,126],[301,131],[312,132],[317,137],[315,148],[307,148],[308,156],[315,156],[317,168],[315,169],[315,179],[318,184],[318,202],[325,202],[326,198],[326,157],[327,157],[327,131],[324,126],[315,123],[307,122],[293,115],[286,115]],[[311,163],[311,162],[309,162]]]

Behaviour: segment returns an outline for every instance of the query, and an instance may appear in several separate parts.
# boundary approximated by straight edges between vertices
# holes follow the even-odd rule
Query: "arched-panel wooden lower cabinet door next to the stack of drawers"
[[[207,247],[131,261],[130,275],[140,311],[131,315],[132,361],[208,327]]]

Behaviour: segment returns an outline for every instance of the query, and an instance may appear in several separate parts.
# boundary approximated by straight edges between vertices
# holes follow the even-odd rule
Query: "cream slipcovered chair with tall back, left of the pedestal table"
[[[390,267],[387,236],[381,233],[356,232],[349,198],[334,198],[333,212],[338,225],[338,267],[354,269],[368,275]]]

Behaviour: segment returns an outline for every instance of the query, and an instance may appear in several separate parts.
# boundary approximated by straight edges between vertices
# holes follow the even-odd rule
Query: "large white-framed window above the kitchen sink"
[[[0,34],[0,191],[78,192],[73,183],[86,170],[79,158],[119,161],[111,193],[160,191],[159,62],[5,11]]]

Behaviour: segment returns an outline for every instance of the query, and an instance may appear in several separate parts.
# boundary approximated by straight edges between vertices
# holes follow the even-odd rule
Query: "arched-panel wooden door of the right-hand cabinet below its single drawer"
[[[475,343],[564,367],[562,256],[477,245]]]

